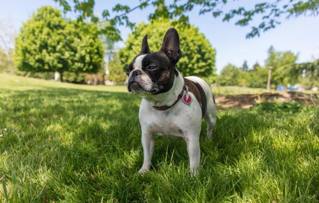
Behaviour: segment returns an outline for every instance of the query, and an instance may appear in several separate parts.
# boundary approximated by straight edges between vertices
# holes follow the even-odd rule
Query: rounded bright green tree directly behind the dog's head
[[[142,39],[148,35],[151,51],[159,51],[163,37],[173,22],[161,18],[153,23],[140,23],[132,34],[129,34],[126,47],[120,49],[119,55],[122,64],[127,65],[140,53]],[[211,47],[204,34],[199,33],[193,25],[175,26],[179,33],[180,49],[182,57],[176,64],[176,68],[183,76],[209,77],[216,71],[215,49]]]

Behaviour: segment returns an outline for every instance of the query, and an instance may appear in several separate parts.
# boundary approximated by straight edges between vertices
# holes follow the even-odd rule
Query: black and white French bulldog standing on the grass
[[[216,108],[210,87],[198,77],[183,78],[175,68],[180,57],[178,33],[170,28],[159,52],[151,53],[145,35],[141,53],[126,69],[129,92],[143,98],[139,119],[144,162],[139,173],[150,170],[154,135],[185,140],[192,175],[196,174],[200,164],[202,119],[207,123],[207,137],[212,138]]]

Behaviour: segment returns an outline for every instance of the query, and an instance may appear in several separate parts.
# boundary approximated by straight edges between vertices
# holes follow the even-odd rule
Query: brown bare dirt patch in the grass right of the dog
[[[301,102],[306,105],[318,105],[319,94],[301,92],[263,93],[245,95],[226,95],[215,98],[218,108],[250,108],[261,102]]]

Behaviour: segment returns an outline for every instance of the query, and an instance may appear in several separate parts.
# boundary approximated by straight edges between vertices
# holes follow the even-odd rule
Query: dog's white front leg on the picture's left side
[[[154,135],[149,133],[142,133],[142,145],[144,161],[142,168],[139,170],[139,173],[143,173],[150,170],[155,145]]]

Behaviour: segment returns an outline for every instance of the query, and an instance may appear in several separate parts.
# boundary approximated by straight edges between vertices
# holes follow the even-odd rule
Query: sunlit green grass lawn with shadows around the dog
[[[185,143],[161,137],[152,171],[136,173],[140,101],[121,86],[0,74],[0,201],[319,202],[318,106],[218,111],[191,178]]]

